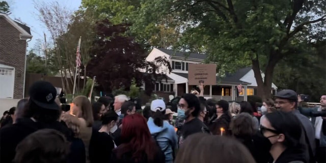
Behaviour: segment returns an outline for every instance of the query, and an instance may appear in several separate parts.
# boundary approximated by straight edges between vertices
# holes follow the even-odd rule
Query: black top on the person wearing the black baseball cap
[[[55,129],[66,135],[68,141],[72,141],[71,130],[59,121],[51,123],[34,122],[30,118],[21,118],[17,123],[4,127],[0,132],[0,162],[11,163],[15,157],[16,146],[29,134],[39,129]],[[78,154],[77,154],[78,155]],[[80,154],[79,154],[80,155]]]

